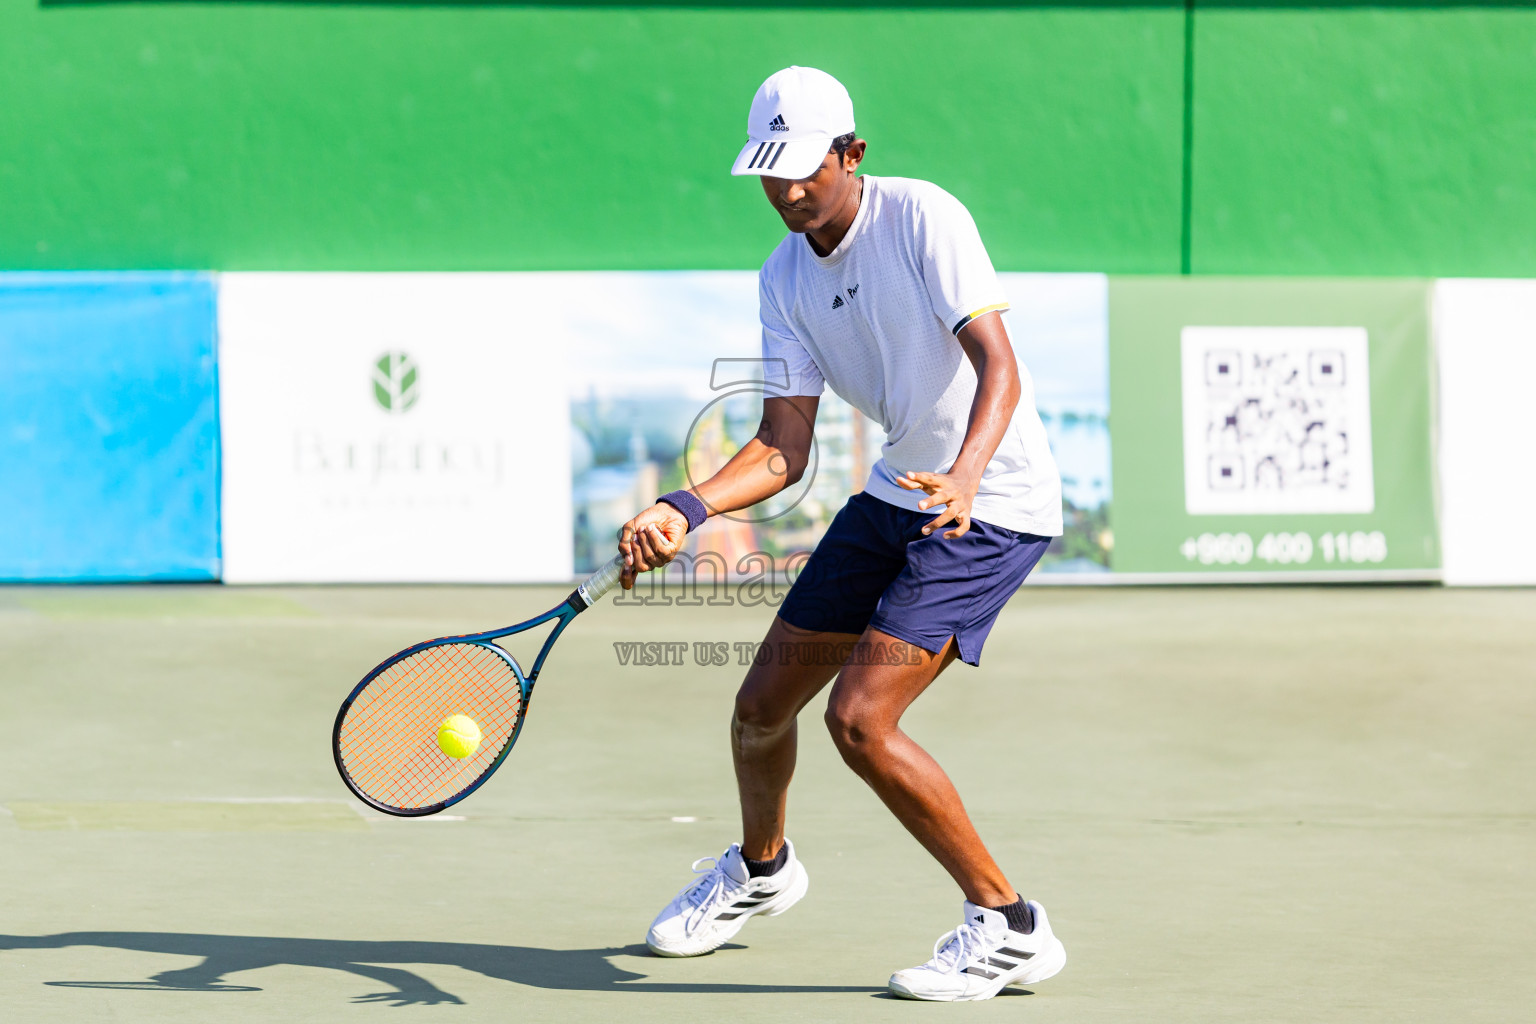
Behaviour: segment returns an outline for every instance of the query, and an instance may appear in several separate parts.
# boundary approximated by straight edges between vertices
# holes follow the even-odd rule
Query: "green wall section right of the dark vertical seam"
[[[1536,276],[1536,9],[1204,8],[1197,273]]]

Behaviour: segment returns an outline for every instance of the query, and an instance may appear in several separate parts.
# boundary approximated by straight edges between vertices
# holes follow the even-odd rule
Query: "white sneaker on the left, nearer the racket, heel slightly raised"
[[[794,844],[785,840],[783,846],[790,851],[785,866],[756,878],[746,874],[742,847],[736,843],[719,858],[696,860],[693,870],[699,877],[656,915],[645,944],[657,956],[697,956],[728,943],[748,918],[777,917],[793,907],[809,880],[794,855]]]

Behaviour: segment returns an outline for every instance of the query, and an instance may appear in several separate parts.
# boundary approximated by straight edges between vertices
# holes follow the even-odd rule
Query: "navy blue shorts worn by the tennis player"
[[[935,513],[854,494],[826,528],[790,588],[779,617],[816,633],[874,626],[938,652],[955,639],[977,665],[997,613],[1051,547],[1051,537],[971,520],[946,540],[945,525],[923,536]]]

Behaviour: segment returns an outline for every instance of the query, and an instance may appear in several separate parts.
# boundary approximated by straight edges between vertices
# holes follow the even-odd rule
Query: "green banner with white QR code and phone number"
[[[1111,278],[1117,574],[1438,579],[1428,282]]]

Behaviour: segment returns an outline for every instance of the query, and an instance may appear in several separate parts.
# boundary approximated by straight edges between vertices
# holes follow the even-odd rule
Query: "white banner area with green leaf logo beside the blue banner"
[[[567,365],[538,278],[223,275],[224,580],[568,580]]]

